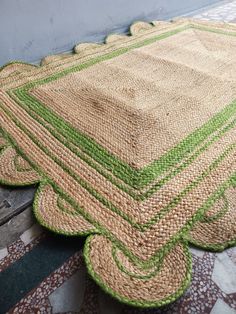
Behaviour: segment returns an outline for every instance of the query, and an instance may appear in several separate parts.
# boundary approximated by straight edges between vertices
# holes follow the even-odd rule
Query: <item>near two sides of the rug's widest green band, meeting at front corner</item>
[[[49,108],[31,95],[27,95],[24,90],[16,90],[15,100],[21,105],[27,105],[44,120],[50,123],[68,141],[77,145],[83,152],[100,163],[116,177],[135,189],[141,189],[150,184],[157,176],[179,163],[186,155],[190,154],[194,148],[202,143],[213,132],[222,127],[232,115],[236,113],[236,101],[226,106],[221,112],[216,114],[202,127],[182,140],[177,146],[169,150],[161,158],[141,170],[135,170],[128,164],[119,161],[118,158],[109,154],[102,146],[98,145],[88,136],[81,134],[61,117],[56,116]],[[19,102],[20,100],[20,102]],[[29,112],[29,111],[28,111]]]

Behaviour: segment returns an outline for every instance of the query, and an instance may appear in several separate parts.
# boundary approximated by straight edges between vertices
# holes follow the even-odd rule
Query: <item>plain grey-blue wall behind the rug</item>
[[[36,62],[101,41],[136,20],[168,19],[217,0],[0,0],[0,65]]]

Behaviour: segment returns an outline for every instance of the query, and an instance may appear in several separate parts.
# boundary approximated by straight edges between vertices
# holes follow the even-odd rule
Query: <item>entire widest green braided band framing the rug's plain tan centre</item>
[[[191,26],[190,26],[191,27]],[[187,27],[189,28],[189,27]],[[180,28],[175,31],[167,32],[162,35],[156,36],[154,38],[148,39],[144,42],[138,43],[139,47],[150,44],[156,40],[164,39],[168,36],[174,35],[177,32],[183,31],[187,29],[186,27]],[[195,26],[194,26],[195,28]],[[201,28],[201,30],[209,31],[208,28]],[[211,30],[213,32],[218,33],[218,30]],[[219,32],[222,34],[222,31]],[[234,35],[234,33],[225,33],[225,35]],[[23,89],[17,89],[13,93],[17,96],[19,100],[27,103],[29,108],[36,111],[39,115],[41,115],[47,122],[51,123],[58,131],[61,131],[63,136],[68,138],[68,140],[73,141],[89,156],[95,159],[97,162],[101,163],[103,167],[105,167],[108,171],[112,171],[112,173],[117,176],[119,179],[123,180],[126,184],[130,185],[135,189],[141,189],[146,185],[150,184],[155,178],[167,171],[170,167],[175,166],[186,154],[188,154],[194,147],[199,145],[206,136],[209,136],[213,131],[222,126],[222,123],[226,121],[236,111],[236,102],[232,103],[230,106],[222,110],[218,115],[213,117],[210,121],[208,121],[203,127],[199,128],[192,134],[190,134],[187,138],[181,141],[176,147],[171,149],[165,155],[163,155],[160,159],[154,161],[150,165],[144,167],[141,170],[134,170],[129,165],[125,164],[117,157],[113,156],[109,152],[107,152],[103,147],[98,145],[93,139],[88,136],[78,132],[78,130],[74,129],[69,123],[66,123],[63,119],[57,116],[54,112],[52,112],[49,108],[40,103],[35,97],[28,95],[28,89],[31,87],[35,87],[38,85],[45,84],[49,81],[55,80],[59,76],[64,76],[68,73],[74,71],[80,71],[88,66],[96,64],[98,62],[107,60],[109,58],[113,58],[120,54],[127,52],[127,49],[131,50],[137,48],[137,44],[131,45],[130,47],[123,48],[122,51],[115,51],[111,54],[103,55],[101,57],[90,60],[85,64],[81,64],[77,67],[73,67],[67,69],[64,72],[57,73],[47,79],[36,81],[28,84]],[[114,55],[115,53],[115,55]],[[104,57],[106,57],[104,59]],[[13,95],[9,92],[10,95]],[[17,100],[16,98],[16,100]],[[232,108],[231,108],[232,107]],[[142,196],[141,196],[142,198]]]

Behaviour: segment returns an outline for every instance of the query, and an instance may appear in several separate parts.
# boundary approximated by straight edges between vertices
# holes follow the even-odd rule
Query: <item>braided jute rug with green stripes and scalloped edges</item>
[[[162,306],[189,243],[236,244],[236,26],[137,22],[41,66],[0,72],[1,182],[39,183],[38,221],[87,236],[88,271],[122,302]]]

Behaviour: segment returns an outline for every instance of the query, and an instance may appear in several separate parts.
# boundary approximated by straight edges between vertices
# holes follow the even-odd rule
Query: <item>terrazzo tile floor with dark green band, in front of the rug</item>
[[[82,243],[71,242],[33,224],[0,250],[0,281],[5,281],[0,287],[0,313],[236,313],[236,248],[217,254],[191,248],[193,277],[183,297],[161,309],[141,310],[103,293],[87,275]]]

